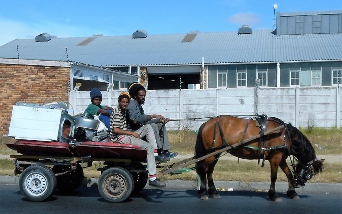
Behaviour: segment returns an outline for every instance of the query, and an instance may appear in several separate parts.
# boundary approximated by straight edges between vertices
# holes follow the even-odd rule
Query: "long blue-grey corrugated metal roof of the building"
[[[77,61],[95,66],[186,65],[342,60],[342,34],[276,36],[270,29],[200,33],[191,42],[184,34],[56,38],[48,42],[16,39],[0,47],[0,58]],[[82,44],[82,45],[80,45]],[[83,45],[84,44],[84,45]],[[67,54],[66,54],[67,50]]]

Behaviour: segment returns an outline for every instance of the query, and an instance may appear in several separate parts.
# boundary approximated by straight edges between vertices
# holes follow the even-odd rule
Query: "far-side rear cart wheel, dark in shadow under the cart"
[[[57,173],[62,173],[65,171],[70,171],[71,166],[63,166],[63,165],[55,165],[52,168],[52,171]],[[72,191],[77,189],[82,183],[84,179],[84,172],[81,165],[76,165],[76,170],[68,172],[66,174],[58,175],[57,177],[57,188],[61,191]]]

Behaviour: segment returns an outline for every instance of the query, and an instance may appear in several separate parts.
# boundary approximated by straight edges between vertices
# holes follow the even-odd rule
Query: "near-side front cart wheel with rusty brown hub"
[[[100,195],[109,202],[122,202],[132,193],[134,182],[132,175],[124,168],[111,167],[99,177]]]

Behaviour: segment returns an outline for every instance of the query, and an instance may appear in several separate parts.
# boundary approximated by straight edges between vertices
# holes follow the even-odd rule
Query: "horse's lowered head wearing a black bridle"
[[[313,178],[317,173],[323,171],[323,162],[325,159],[314,159],[307,163],[298,162],[294,166],[293,182],[296,188],[305,186],[307,180]]]

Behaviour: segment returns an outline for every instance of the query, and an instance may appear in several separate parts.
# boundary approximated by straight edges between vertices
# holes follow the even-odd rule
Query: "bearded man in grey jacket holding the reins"
[[[172,153],[168,151],[170,145],[165,124],[169,119],[162,115],[146,115],[144,113],[141,105],[145,103],[146,89],[141,84],[137,82],[130,84],[128,86],[128,93],[132,100],[126,110],[127,129],[137,130],[146,124],[150,124],[155,134],[159,154],[167,158],[176,157],[178,155],[177,152]]]

